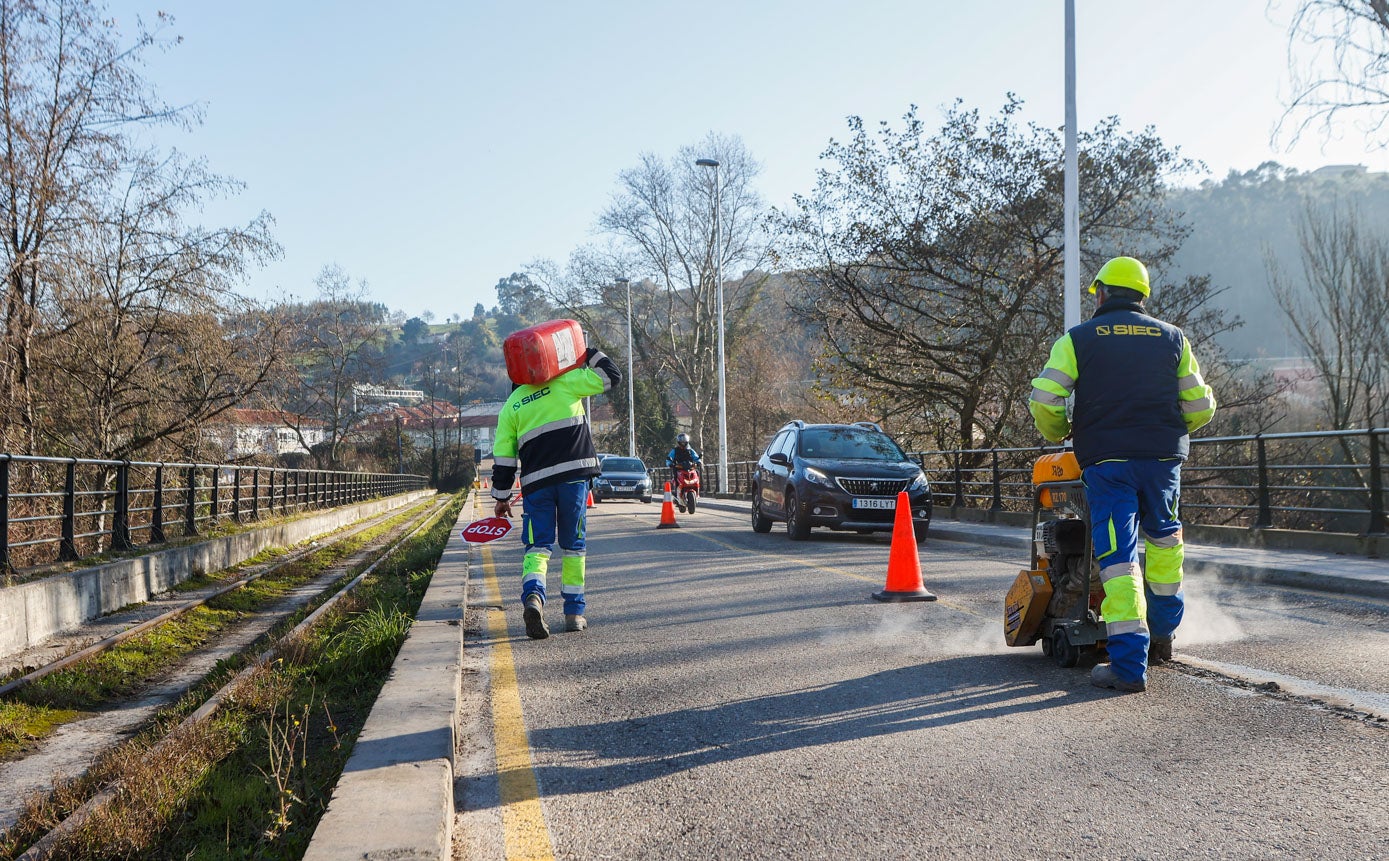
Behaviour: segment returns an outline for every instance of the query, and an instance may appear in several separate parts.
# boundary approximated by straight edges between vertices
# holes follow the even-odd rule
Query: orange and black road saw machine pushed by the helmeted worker
[[[1103,657],[1103,600],[1081,465],[1074,451],[1043,454],[1032,464],[1032,567],[1003,601],[1004,640],[1040,642],[1060,667]]]

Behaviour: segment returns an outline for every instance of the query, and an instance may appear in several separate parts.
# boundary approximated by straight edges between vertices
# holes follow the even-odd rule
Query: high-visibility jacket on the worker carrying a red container
[[[539,386],[517,386],[497,417],[493,499],[511,499],[518,468],[522,493],[597,475],[599,457],[583,417],[583,399],[610,390],[621,379],[617,364],[589,347],[586,367]]]

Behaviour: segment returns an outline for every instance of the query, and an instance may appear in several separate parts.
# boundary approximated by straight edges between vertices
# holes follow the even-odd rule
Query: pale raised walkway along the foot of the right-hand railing
[[[749,511],[749,503],[745,500],[706,499],[703,504]],[[936,518],[931,524],[928,540],[1006,547],[1017,550],[1020,558],[1026,561],[1031,539],[1031,532],[1025,526]],[[1389,560],[1310,550],[1188,543],[1185,568],[1195,576],[1214,575],[1225,580],[1261,582],[1389,600]]]

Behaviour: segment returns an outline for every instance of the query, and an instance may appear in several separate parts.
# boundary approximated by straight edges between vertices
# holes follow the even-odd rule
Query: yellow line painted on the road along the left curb
[[[500,596],[492,549],[482,546],[482,568],[488,589]],[[550,829],[540,807],[540,786],[521,714],[521,687],[507,633],[507,617],[500,610],[488,612],[492,635],[492,737],[497,754],[497,785],[501,796],[501,832],[507,858],[544,861],[554,858]]]

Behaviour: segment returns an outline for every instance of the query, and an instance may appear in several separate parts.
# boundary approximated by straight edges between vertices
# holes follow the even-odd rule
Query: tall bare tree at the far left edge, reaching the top
[[[163,21],[163,17],[161,17]],[[90,0],[0,0],[0,444],[38,442],[36,333],[61,276],[54,243],[90,222],[88,192],[126,158],[126,132],[192,122],[138,74],[156,36],[122,47]]]

